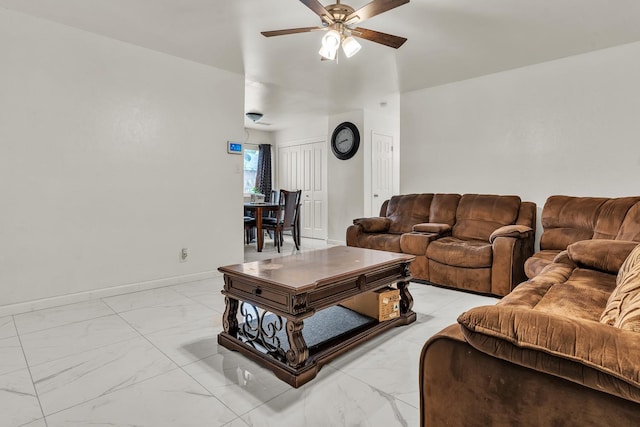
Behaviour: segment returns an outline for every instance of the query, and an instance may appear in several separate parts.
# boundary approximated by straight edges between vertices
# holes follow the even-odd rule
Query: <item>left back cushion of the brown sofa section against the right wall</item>
[[[564,250],[572,243],[593,238],[604,197],[551,196],[542,209],[540,249]],[[604,228],[604,227],[603,227]]]

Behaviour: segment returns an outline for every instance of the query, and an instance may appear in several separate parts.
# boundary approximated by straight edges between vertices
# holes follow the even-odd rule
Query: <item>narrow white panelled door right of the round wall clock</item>
[[[378,215],[393,195],[393,137],[372,132],[371,141],[371,212]]]

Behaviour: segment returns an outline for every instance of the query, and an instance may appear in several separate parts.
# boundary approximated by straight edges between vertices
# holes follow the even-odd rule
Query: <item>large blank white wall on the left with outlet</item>
[[[1,9],[0,55],[0,309],[242,261],[243,76]]]

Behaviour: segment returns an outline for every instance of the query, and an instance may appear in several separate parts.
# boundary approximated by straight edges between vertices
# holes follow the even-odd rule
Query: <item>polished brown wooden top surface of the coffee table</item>
[[[335,246],[263,261],[227,265],[218,268],[218,271],[232,276],[259,279],[263,283],[300,292],[357,276],[374,268],[410,262],[414,258],[414,255]]]

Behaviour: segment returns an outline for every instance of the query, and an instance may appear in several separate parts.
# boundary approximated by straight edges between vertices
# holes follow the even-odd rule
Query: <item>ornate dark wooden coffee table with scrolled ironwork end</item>
[[[218,343],[271,369],[293,387],[300,387],[341,353],[389,328],[416,320],[408,289],[409,265],[414,258],[340,246],[220,267],[226,309]],[[342,319],[342,314],[359,316],[336,307],[341,301],[394,283],[400,291],[399,317],[384,322],[367,318],[353,330],[332,335],[333,329],[345,323],[335,320]],[[319,313],[325,309],[336,313]],[[243,322],[238,321],[238,310]],[[320,330],[323,336],[330,332],[329,338],[308,347],[303,335],[305,325],[309,330]]]

